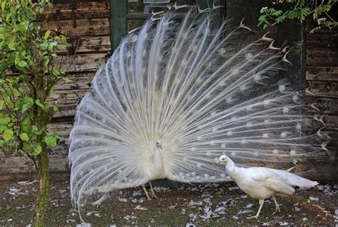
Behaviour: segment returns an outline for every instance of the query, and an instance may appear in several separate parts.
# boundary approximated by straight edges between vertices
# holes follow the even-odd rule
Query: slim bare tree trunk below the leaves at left
[[[49,197],[49,164],[46,146],[38,155],[39,193],[35,201],[34,226],[45,226],[46,208]]]

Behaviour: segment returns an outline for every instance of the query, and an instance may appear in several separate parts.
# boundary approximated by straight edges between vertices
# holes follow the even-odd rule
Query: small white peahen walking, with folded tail
[[[277,203],[275,195],[291,196],[295,193],[294,186],[299,186],[300,189],[310,189],[318,184],[317,181],[310,181],[281,169],[236,167],[235,162],[225,154],[220,156],[217,163],[225,164],[227,174],[238,187],[253,199],[260,201],[260,208],[258,208],[256,215],[248,218],[260,216],[265,199],[272,197],[276,205],[275,214],[280,212],[280,204]]]

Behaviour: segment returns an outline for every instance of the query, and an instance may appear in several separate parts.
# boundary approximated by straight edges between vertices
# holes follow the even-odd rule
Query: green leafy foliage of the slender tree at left
[[[46,124],[58,107],[48,96],[58,80],[66,80],[56,63],[66,38],[43,31],[38,22],[49,6],[48,0],[1,0],[0,144],[31,159],[44,145],[56,147],[59,137],[48,134]]]

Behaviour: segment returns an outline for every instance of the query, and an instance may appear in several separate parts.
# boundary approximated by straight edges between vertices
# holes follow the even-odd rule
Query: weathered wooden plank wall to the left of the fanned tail
[[[65,35],[67,52],[62,53],[63,68],[68,70],[72,83],[59,83],[51,96],[58,104],[60,116],[55,116],[50,125],[65,138],[50,152],[51,172],[54,177],[68,177],[67,142],[71,131],[76,106],[90,88],[96,70],[111,53],[109,36],[109,0],[54,0],[48,23],[43,28]],[[0,154],[0,180],[35,177],[31,161],[11,154]],[[11,174],[11,175],[9,175]]]

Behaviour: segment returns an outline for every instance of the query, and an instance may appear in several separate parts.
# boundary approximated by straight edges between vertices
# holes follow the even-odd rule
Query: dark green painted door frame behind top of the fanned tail
[[[196,0],[200,9],[211,7],[215,0]],[[121,39],[128,33],[128,19],[147,19],[145,14],[128,14],[128,0],[111,0],[111,51],[116,50]]]

